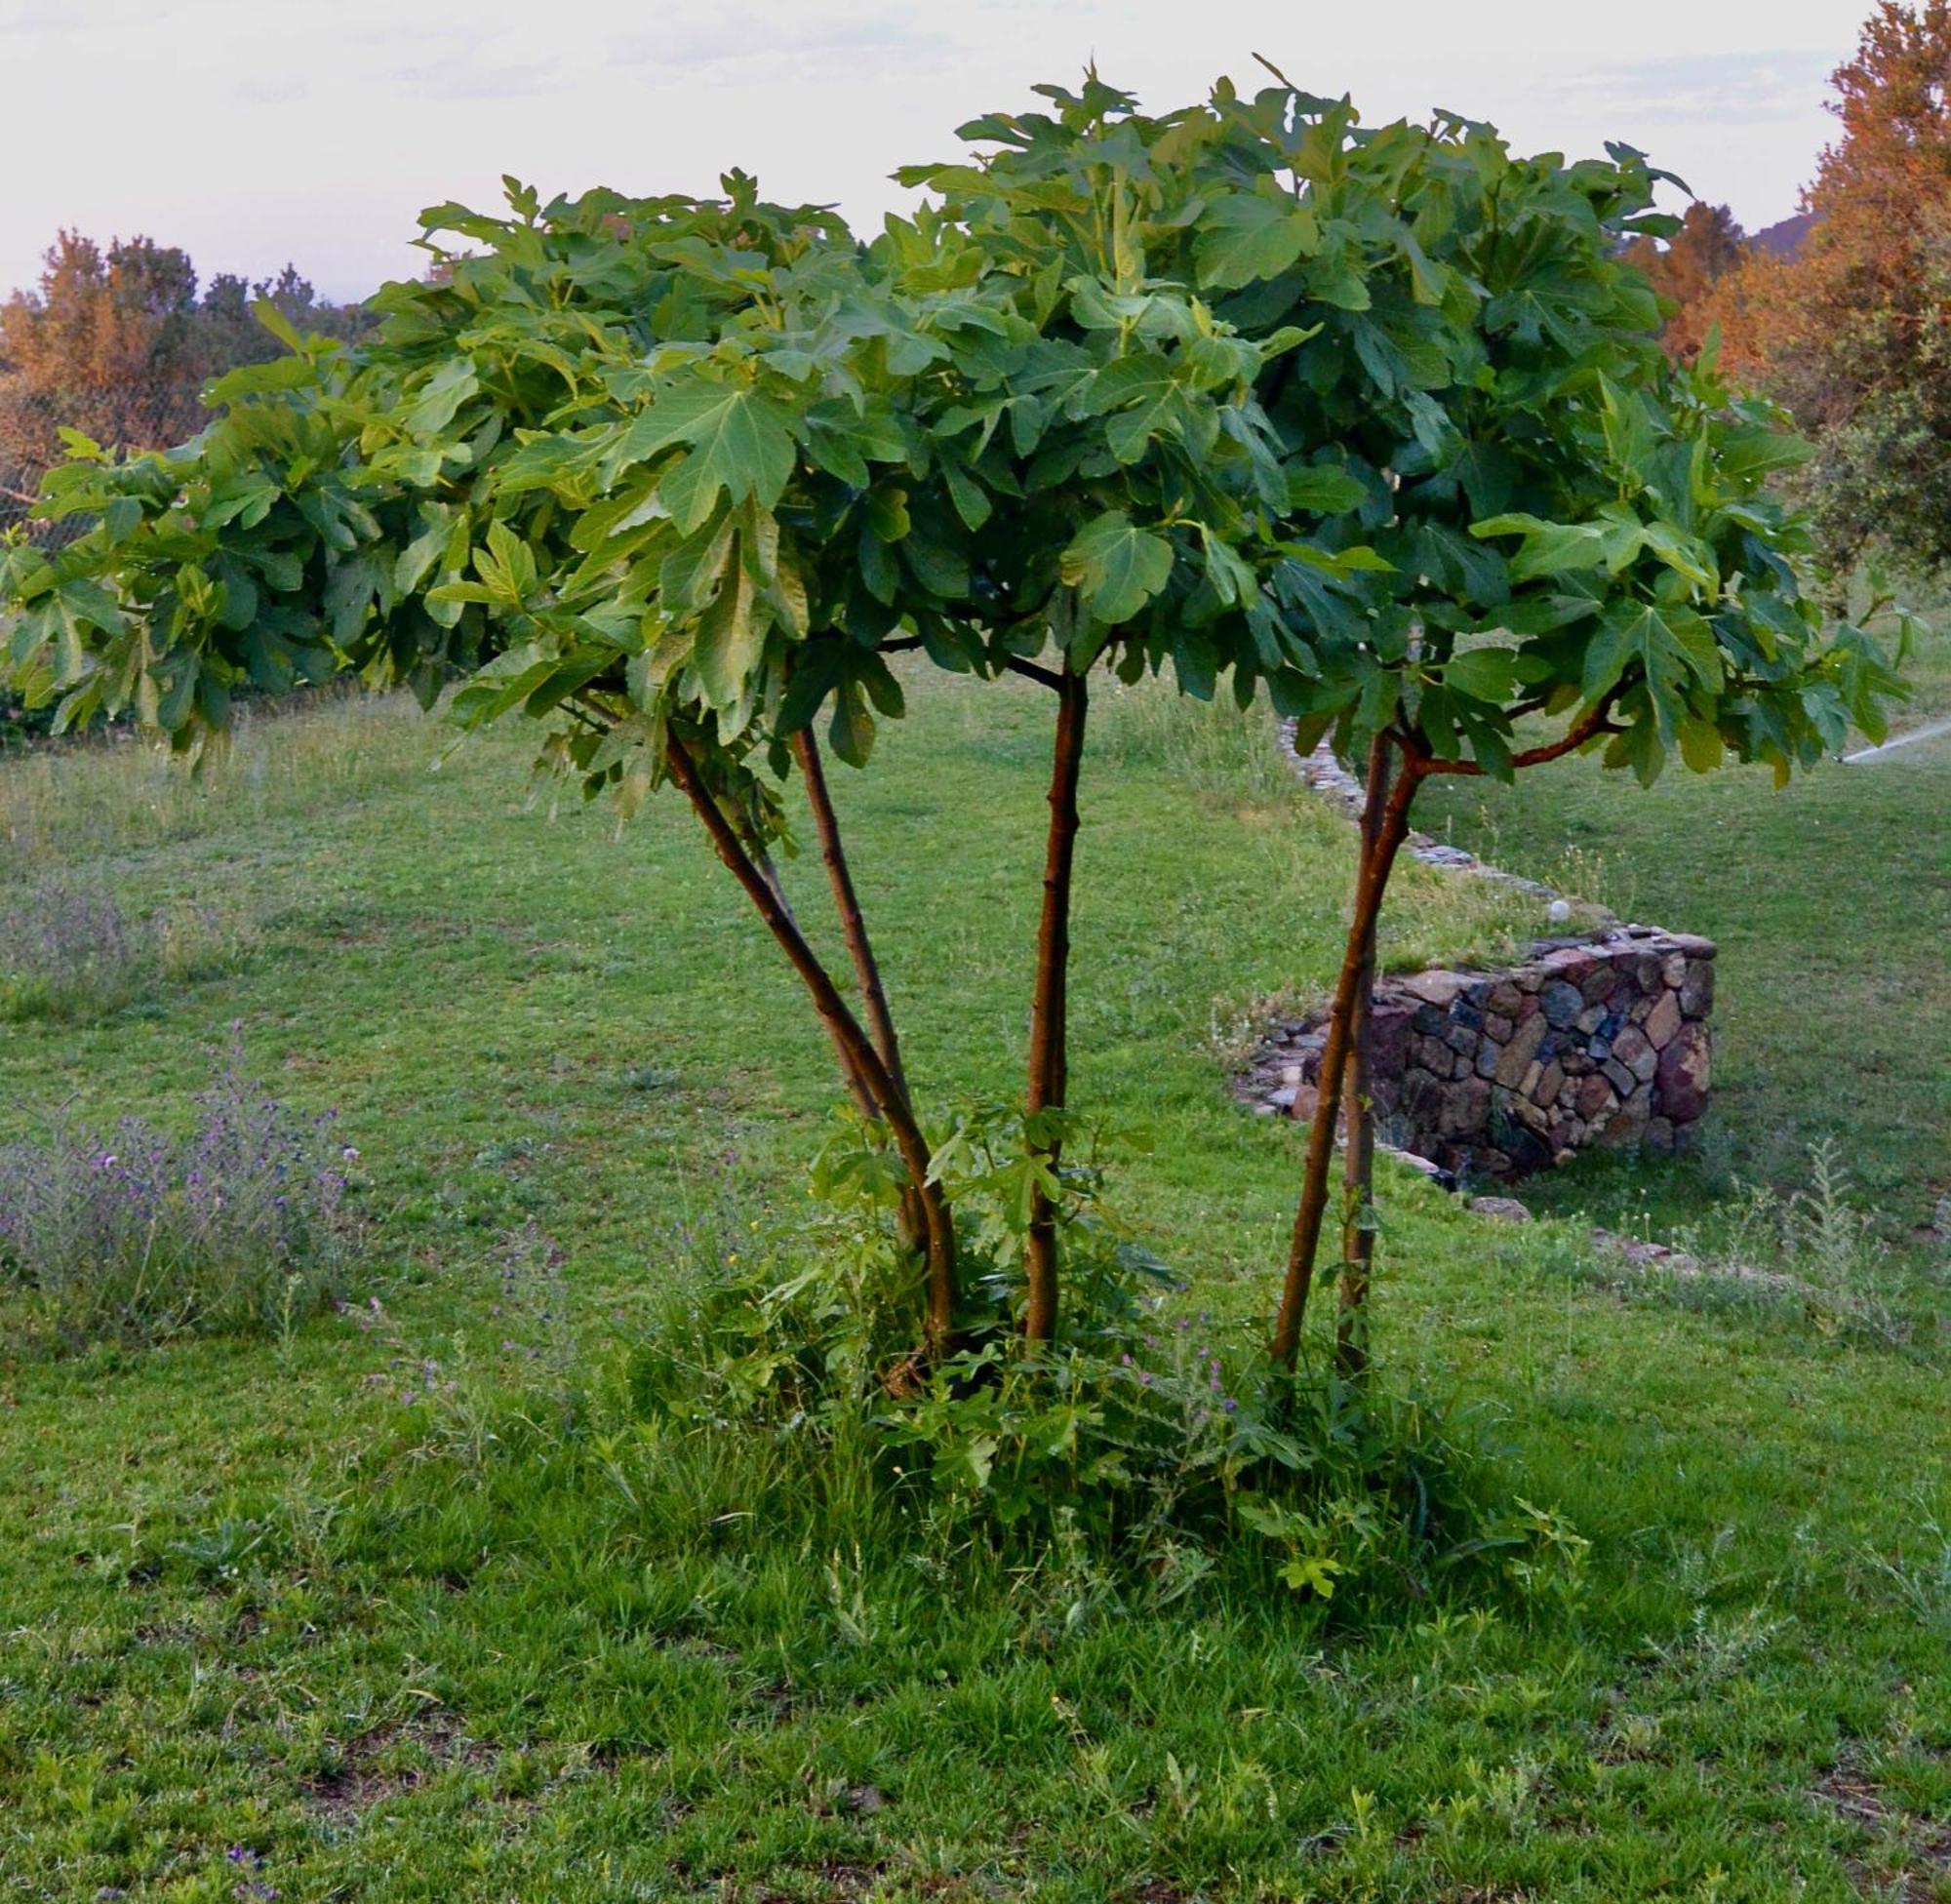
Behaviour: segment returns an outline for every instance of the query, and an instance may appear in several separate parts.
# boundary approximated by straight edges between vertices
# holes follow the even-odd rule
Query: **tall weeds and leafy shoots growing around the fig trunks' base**
[[[899,1172],[853,1120],[806,1208],[687,1229],[665,1309],[607,1344],[568,1327],[538,1274],[556,1252],[509,1239],[503,1286],[527,1295],[496,1305],[494,1340],[425,1356],[388,1336],[406,1471],[496,1463],[498,1492],[546,1475],[558,1500],[581,1492],[579,1539],[605,1549],[866,1553],[1026,1606],[1239,1590],[1360,1623],[1578,1580],[1584,1541],[1510,1492],[1479,1422],[1391,1383],[1288,1369],[1249,1319],[1192,1311],[1106,1206],[1081,1128],[1065,1130],[1059,1227],[1075,1293],[1026,1354],[1013,1264],[1046,1135],[987,1106],[942,1137],[968,1301],[933,1360],[913,1340],[915,1254],[888,1221]]]

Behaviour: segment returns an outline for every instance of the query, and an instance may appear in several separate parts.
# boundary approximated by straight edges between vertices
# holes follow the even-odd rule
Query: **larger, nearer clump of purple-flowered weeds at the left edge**
[[[57,1120],[0,1147],[0,1317],[59,1350],[289,1332],[343,1289],[353,1159],[330,1116],[252,1083],[236,1046],[187,1135]]]

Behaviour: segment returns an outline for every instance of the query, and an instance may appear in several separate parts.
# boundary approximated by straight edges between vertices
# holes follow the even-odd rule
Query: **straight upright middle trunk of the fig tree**
[[[1036,995],[1030,1003],[1030,1089],[1026,1110],[1059,1110],[1069,1089],[1071,866],[1077,858],[1077,776],[1085,757],[1089,689],[1083,675],[1057,679],[1057,735],[1050,753],[1050,839],[1044,851],[1044,913],[1036,929]],[[1063,1145],[1052,1141],[1052,1170]],[[1022,1332],[1048,1342],[1057,1327],[1057,1210],[1042,1188],[1030,1198],[1022,1243]]]

